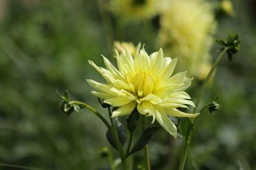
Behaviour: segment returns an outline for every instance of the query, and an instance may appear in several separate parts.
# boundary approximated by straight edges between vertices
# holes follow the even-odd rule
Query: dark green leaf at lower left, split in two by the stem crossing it
[[[127,134],[126,134],[126,132],[125,132],[124,125],[118,126],[117,121],[115,121],[114,124],[115,124],[115,129],[116,129],[116,132],[117,132],[118,139],[119,139],[121,145],[124,145],[124,143],[125,143],[125,141],[126,141],[126,139],[127,139]],[[112,136],[112,134],[111,134],[111,132],[109,131],[109,129],[108,129],[108,131],[106,132],[106,137],[107,137],[107,139],[108,139],[108,141],[109,141],[109,144],[110,144],[113,148],[115,148],[115,149],[117,150],[117,145],[116,145],[115,138]]]

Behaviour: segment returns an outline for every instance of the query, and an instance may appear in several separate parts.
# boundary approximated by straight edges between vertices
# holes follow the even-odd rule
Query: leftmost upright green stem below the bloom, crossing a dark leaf
[[[124,155],[124,150],[123,150],[123,147],[118,139],[118,134],[116,132],[116,128],[115,128],[115,124],[114,124],[114,121],[113,121],[113,118],[111,118],[111,110],[110,108],[108,108],[108,113],[109,113],[109,119],[110,119],[110,122],[111,122],[111,129],[113,131],[113,137],[115,139],[115,142],[116,142],[116,146],[117,146],[117,150],[119,152],[119,155],[120,155],[120,158],[121,158],[121,161],[122,161],[122,167],[123,167],[123,170],[127,170],[127,166],[126,166],[126,157]]]

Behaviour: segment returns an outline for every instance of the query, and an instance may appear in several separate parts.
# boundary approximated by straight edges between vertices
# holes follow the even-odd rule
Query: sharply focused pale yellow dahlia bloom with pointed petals
[[[141,115],[151,116],[176,138],[177,128],[168,118],[196,117],[199,113],[188,114],[177,108],[194,106],[189,95],[184,92],[191,84],[186,71],[172,76],[176,59],[163,57],[163,50],[148,56],[144,49],[133,58],[128,50],[121,55],[116,52],[117,68],[103,57],[106,69],[89,63],[106,80],[99,83],[87,80],[95,91],[92,94],[104,99],[104,103],[118,107],[112,117],[129,115],[136,108]]]

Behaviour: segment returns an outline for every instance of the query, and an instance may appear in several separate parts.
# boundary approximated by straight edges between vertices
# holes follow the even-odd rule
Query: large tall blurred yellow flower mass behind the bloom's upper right
[[[179,58],[178,70],[204,79],[211,69],[209,51],[216,28],[211,4],[202,0],[167,0],[161,7],[159,45]]]

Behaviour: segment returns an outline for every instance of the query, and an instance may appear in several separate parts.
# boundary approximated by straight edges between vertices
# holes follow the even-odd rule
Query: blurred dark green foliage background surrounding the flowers
[[[134,22],[126,7],[120,9],[127,19],[110,1],[0,0],[0,169],[16,169],[4,164],[109,169],[108,160],[100,157],[102,147],[111,148],[104,124],[87,110],[67,118],[56,90],[68,90],[71,99],[104,113],[85,81],[102,81],[88,60],[99,66],[100,54],[113,60],[113,41],[141,42],[148,53],[161,47],[156,43],[161,14],[148,10]],[[186,169],[256,169],[256,1],[231,1],[229,13],[221,1],[207,2],[217,23],[212,39],[237,32],[241,51],[231,63],[227,57],[221,60],[205,93],[203,103],[220,95],[221,108],[215,115],[205,111],[198,119]],[[220,48],[215,44],[209,50],[211,60]],[[202,80],[194,78],[187,90],[192,99],[200,85]],[[149,146],[152,169],[177,169],[181,138],[174,140],[162,129]]]

